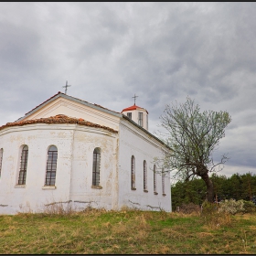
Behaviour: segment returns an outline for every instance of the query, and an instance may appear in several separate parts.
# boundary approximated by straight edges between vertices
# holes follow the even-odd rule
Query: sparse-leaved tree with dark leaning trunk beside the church
[[[213,183],[209,172],[216,171],[218,165],[223,166],[229,157],[222,155],[220,162],[214,164],[212,154],[219,140],[225,137],[225,128],[231,122],[229,113],[200,112],[199,106],[187,97],[185,103],[166,105],[160,119],[161,126],[167,131],[162,139],[171,150],[165,151],[164,158],[156,162],[164,163],[165,168],[183,180],[201,177],[207,186],[207,200],[213,202]]]

